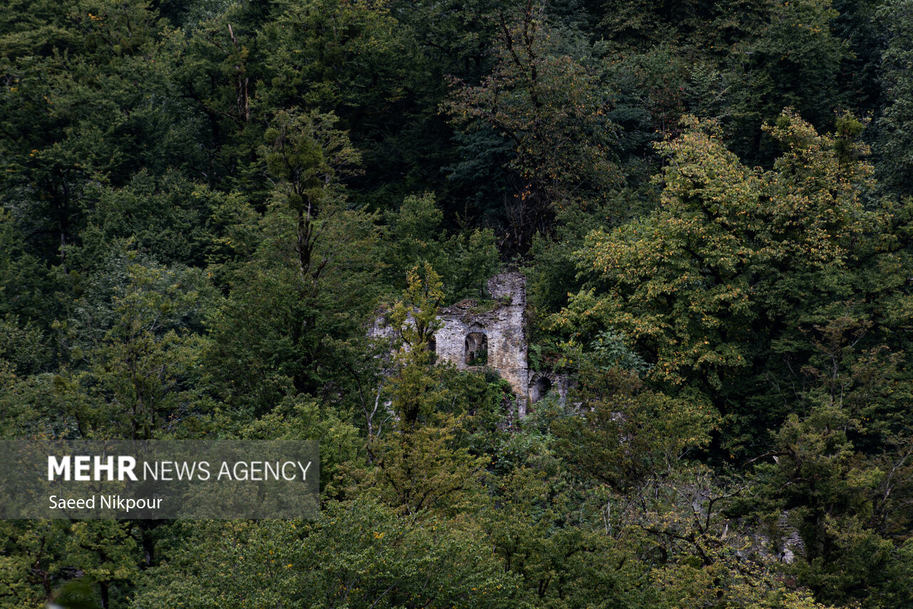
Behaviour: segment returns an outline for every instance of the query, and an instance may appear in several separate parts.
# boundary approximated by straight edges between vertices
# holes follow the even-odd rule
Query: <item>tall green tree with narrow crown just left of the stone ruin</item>
[[[337,383],[352,381],[353,344],[368,350],[362,321],[377,294],[377,230],[373,215],[346,202],[341,178],[358,154],[335,121],[280,111],[260,149],[272,199],[257,251],[227,277],[232,290],[210,322],[206,355],[239,412],[269,411],[298,394],[331,399]]]

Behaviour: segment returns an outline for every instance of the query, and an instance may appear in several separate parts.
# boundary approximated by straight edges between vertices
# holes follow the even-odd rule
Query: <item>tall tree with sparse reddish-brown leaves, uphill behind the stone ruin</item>
[[[592,69],[561,48],[542,5],[498,14],[498,62],[477,86],[454,80],[444,108],[459,126],[511,150],[504,248],[526,253],[556,209],[614,185],[615,127]]]

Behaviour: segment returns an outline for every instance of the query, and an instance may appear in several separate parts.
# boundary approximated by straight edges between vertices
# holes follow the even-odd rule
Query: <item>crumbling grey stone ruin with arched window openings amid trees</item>
[[[525,416],[530,404],[555,390],[561,401],[567,397],[568,379],[551,371],[530,370],[526,334],[526,278],[519,272],[504,272],[488,280],[490,301],[464,300],[441,309],[440,329],[432,347],[438,360],[456,369],[497,370],[517,396],[517,415]],[[382,320],[371,335],[391,336]]]

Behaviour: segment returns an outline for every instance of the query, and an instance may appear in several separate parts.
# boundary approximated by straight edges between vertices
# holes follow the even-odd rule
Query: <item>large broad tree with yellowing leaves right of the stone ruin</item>
[[[584,344],[600,329],[621,331],[656,362],[651,379],[696,387],[734,415],[746,393],[786,382],[808,357],[799,328],[860,291],[897,294],[901,283],[866,284],[859,266],[902,260],[876,246],[887,217],[863,206],[865,149],[816,134],[792,112],[769,131],[784,148],[770,171],[742,165],[712,123],[692,120],[663,144],[662,205],[591,234],[579,261],[593,284],[553,326]],[[772,401],[753,403],[758,416],[782,416]]]

